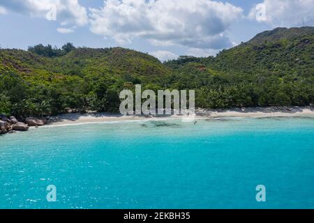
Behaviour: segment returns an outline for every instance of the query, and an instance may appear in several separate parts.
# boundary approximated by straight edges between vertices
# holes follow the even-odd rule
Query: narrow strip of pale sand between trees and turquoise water
[[[211,110],[197,109],[195,118],[232,118],[232,117],[294,117],[314,116],[314,107],[253,107],[246,109]],[[149,121],[163,118],[182,118],[182,116],[122,116],[121,114],[89,113],[62,114],[54,116],[49,125],[71,125],[80,123],[100,123],[111,121]]]

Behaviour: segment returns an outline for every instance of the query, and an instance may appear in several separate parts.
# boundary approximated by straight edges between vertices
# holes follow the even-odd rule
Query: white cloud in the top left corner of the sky
[[[57,20],[62,26],[88,24],[87,10],[77,0],[1,0],[0,6],[15,13]]]

